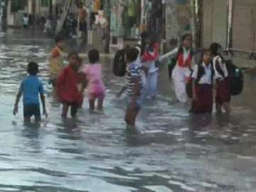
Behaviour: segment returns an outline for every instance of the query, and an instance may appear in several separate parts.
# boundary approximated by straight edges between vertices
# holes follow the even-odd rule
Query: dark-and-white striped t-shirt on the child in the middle
[[[139,85],[142,87],[142,75],[140,73],[140,68],[137,63],[129,63],[127,65],[125,80],[127,87],[127,95],[134,96],[134,86],[139,79]]]

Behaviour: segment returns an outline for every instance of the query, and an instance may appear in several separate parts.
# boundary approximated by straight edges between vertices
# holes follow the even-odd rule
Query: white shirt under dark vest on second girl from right
[[[198,84],[211,85],[212,84],[212,69],[211,69],[211,66],[210,66],[210,64],[206,65],[205,63],[203,63],[202,66],[205,70],[205,74],[201,77]],[[198,65],[195,65],[195,67],[193,68],[192,78],[194,80],[196,80],[198,78]]]

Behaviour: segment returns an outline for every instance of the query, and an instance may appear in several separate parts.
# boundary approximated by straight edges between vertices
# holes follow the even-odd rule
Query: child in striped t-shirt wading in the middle
[[[127,71],[126,71],[126,87],[127,87],[127,112],[125,121],[127,125],[134,127],[137,114],[142,105],[142,76],[140,68],[136,63],[139,51],[137,48],[131,48],[126,53]]]

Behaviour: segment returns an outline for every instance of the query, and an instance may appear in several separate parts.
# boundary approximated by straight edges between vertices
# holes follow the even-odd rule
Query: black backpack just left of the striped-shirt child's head
[[[124,77],[126,72],[126,62],[124,60],[124,55],[126,49],[117,50],[117,53],[114,55],[113,63],[113,73],[118,77]]]

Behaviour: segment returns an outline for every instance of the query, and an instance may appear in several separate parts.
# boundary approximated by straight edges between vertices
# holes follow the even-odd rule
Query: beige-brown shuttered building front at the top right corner
[[[255,0],[203,0],[201,46],[220,43],[226,50],[256,52]]]

